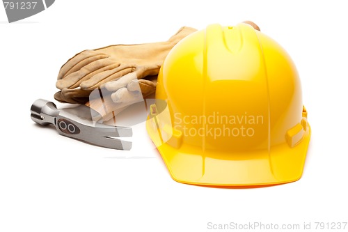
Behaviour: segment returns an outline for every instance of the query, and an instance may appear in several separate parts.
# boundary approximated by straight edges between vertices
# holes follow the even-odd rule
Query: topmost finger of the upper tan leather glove
[[[63,79],[72,72],[76,72],[80,68],[88,65],[97,59],[103,59],[108,57],[106,54],[100,54],[100,52],[95,52],[93,50],[85,50],[76,54],[71,59],[69,59],[59,70],[57,79]]]

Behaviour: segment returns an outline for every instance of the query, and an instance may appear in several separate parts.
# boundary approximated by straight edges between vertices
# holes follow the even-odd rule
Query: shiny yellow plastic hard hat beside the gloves
[[[146,126],[173,179],[193,185],[299,180],[310,141],[292,59],[244,23],[207,26],[173,47]]]

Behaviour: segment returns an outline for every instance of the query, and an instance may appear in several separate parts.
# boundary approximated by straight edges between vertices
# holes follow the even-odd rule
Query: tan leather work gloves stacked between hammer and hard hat
[[[166,42],[111,45],[80,52],[61,67],[56,82],[61,91],[54,98],[85,104],[95,88],[104,87],[111,91],[113,102],[131,102],[139,91],[145,98],[155,92],[159,68],[168,52],[194,31],[182,27]]]

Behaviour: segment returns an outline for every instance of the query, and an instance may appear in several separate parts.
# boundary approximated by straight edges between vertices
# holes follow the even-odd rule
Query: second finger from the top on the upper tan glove
[[[70,75],[65,77],[64,79],[59,79],[56,82],[56,87],[59,89],[63,88],[77,88],[81,82],[93,77],[99,72],[104,72],[106,70],[111,70],[116,68],[118,63],[114,63],[112,59],[101,59],[97,61],[93,61],[88,65],[84,66],[77,72],[72,72]]]

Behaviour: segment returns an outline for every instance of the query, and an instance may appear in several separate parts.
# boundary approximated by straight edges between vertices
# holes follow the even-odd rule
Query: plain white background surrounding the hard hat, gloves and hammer
[[[207,223],[347,222],[345,1],[59,1],[8,24],[0,7],[0,231],[209,231]],[[84,49],[167,40],[181,26],[256,22],[296,63],[312,137],[301,180],[219,189],[176,183],[145,130],[125,152],[31,121]],[[139,132],[140,133],[140,132]],[[346,228],[346,231],[348,228]],[[314,230],[313,230],[314,231]]]

